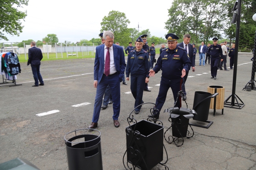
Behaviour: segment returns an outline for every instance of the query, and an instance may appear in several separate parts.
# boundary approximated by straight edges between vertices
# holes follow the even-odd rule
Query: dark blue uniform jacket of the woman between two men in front
[[[148,74],[149,74],[148,52],[142,49],[137,55],[136,50],[131,51],[127,59],[127,66],[125,71],[126,71],[126,77],[129,77],[130,74],[132,76],[144,74],[145,77],[148,77]]]

